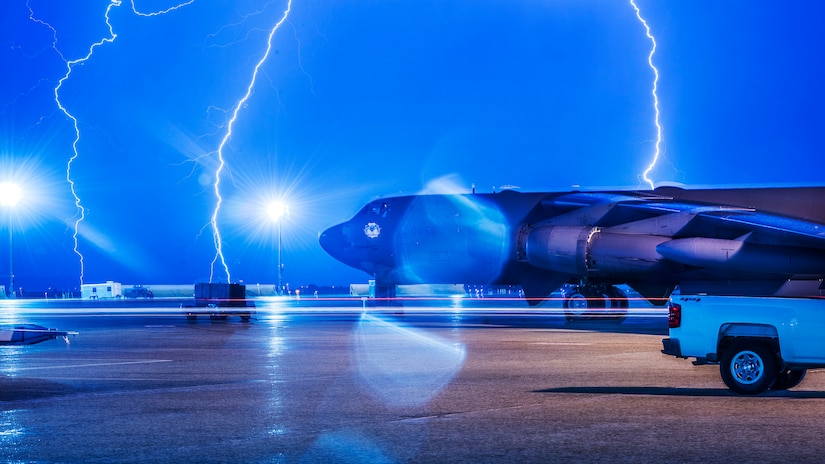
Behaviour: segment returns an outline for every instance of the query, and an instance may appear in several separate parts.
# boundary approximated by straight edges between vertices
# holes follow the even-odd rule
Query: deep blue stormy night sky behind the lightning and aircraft
[[[638,4],[658,45],[655,182],[825,184],[825,4]],[[55,87],[66,60],[109,37],[108,5],[0,6],[0,181],[24,191],[11,214],[26,289],[80,283],[66,173],[75,132]],[[142,13],[175,5],[134,2]],[[218,147],[286,7],[111,8],[117,36],[58,94],[81,134],[70,179],[85,211],[84,282],[225,279],[211,264]],[[646,188],[651,45],[629,1],[294,0],[222,150],[217,224],[231,280],[276,280],[266,205],[279,197],[290,205],[285,280],[325,285],[367,276],[328,257],[318,232],[379,196]]]

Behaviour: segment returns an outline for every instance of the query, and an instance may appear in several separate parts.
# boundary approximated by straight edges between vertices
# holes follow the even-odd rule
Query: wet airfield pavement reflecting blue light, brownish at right
[[[825,373],[739,397],[660,353],[661,309],[260,301],[0,308],[77,331],[0,347],[2,462],[810,462]]]

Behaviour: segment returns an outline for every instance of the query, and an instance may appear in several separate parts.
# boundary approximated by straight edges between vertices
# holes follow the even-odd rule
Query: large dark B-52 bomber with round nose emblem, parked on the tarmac
[[[519,285],[531,305],[654,304],[683,293],[825,292],[825,187],[570,191],[383,198],[320,235],[337,260],[399,284]],[[624,302],[623,302],[624,300]]]

